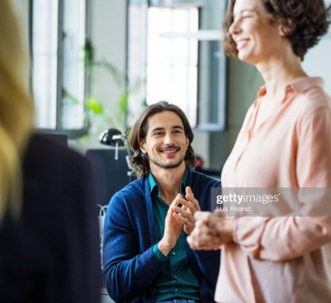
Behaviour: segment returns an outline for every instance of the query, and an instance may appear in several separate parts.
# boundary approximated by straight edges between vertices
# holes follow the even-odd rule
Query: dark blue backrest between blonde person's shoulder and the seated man
[[[114,149],[89,149],[85,157],[95,168],[98,199],[95,204],[104,206],[116,191],[125,187],[130,181],[127,176],[128,167],[126,164],[126,150],[118,150],[118,159],[115,160]]]

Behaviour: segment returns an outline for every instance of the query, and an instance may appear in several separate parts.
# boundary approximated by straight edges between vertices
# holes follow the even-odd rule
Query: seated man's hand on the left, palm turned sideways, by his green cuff
[[[183,230],[183,223],[180,220],[177,220],[174,214],[176,214],[176,207],[178,204],[181,203],[181,197],[180,194],[176,196],[174,201],[170,204],[168,212],[165,217],[165,232],[160,240],[158,242],[158,249],[167,256],[167,254],[170,252],[170,250],[176,246],[176,242],[178,240],[178,237],[182,233]]]

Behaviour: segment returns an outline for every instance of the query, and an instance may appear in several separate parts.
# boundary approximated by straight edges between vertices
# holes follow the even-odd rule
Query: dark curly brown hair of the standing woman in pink
[[[281,25],[285,37],[292,45],[293,52],[304,60],[307,50],[316,45],[327,32],[330,24],[331,5],[326,7],[323,0],[261,0],[271,23]],[[235,41],[229,33],[234,21],[236,0],[230,0],[223,24],[226,36],[223,47],[226,55],[237,57]]]

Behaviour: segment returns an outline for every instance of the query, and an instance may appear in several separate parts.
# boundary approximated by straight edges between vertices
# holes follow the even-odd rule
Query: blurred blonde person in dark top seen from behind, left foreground
[[[10,0],[0,1],[0,41],[0,302],[98,302],[91,170],[34,134],[27,47]]]

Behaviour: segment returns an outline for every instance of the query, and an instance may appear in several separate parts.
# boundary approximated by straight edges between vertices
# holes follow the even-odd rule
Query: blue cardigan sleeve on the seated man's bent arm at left
[[[105,288],[116,302],[145,294],[163,265],[155,256],[152,245],[144,252],[139,251],[137,231],[125,205],[126,199],[134,197],[125,197],[118,192],[111,199],[105,215],[103,274]]]

